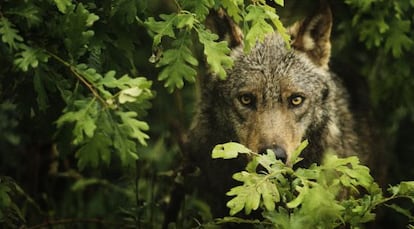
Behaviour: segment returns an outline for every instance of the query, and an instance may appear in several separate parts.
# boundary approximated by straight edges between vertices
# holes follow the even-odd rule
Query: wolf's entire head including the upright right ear
[[[332,116],[341,92],[328,71],[331,21],[326,8],[296,23],[290,28],[291,49],[276,33],[248,54],[242,47],[233,51],[228,78],[211,80],[206,92],[214,88],[209,112],[227,141],[259,153],[270,149],[289,161],[304,139],[322,150],[323,143],[314,139],[339,138]]]

